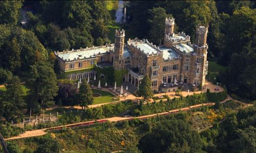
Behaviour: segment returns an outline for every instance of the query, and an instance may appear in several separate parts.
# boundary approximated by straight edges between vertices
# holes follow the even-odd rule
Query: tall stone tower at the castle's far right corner
[[[194,74],[195,80],[199,81],[200,84],[204,86],[205,75],[207,74],[208,62],[207,62],[207,49],[206,44],[208,26],[197,26],[196,29],[196,42],[194,44],[194,54],[193,59],[195,62],[195,70],[191,72]]]

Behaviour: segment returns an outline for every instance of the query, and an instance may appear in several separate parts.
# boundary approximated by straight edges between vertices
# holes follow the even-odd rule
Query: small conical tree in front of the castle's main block
[[[140,96],[144,98],[144,100],[153,97],[153,92],[151,89],[151,80],[150,78],[148,78],[147,75],[145,75],[144,78],[141,80],[141,84],[139,84],[138,93]]]

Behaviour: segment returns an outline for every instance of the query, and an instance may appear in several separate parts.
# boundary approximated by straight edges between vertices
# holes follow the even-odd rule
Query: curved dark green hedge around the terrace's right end
[[[210,92],[210,89],[207,89],[206,96],[210,102],[221,102],[224,101],[227,97],[227,90],[224,87],[224,91],[221,92]]]

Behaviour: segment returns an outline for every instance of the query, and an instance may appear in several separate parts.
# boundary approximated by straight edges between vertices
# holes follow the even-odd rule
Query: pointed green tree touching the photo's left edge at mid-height
[[[22,116],[22,108],[26,103],[22,95],[24,94],[20,87],[20,82],[17,76],[13,76],[5,85],[6,91],[2,94],[1,107],[3,108],[3,117],[8,121],[14,119],[15,116]]]

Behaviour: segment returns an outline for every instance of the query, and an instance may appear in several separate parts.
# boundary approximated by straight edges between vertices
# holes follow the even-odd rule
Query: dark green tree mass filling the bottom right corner
[[[255,106],[240,109],[228,115],[219,127],[203,131],[205,151],[251,152],[255,150]]]

